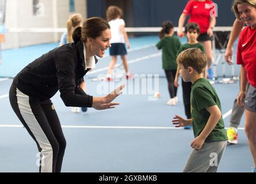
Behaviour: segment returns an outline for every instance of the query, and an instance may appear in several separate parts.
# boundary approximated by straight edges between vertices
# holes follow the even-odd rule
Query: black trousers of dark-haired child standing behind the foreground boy
[[[183,79],[181,79],[181,85],[182,85],[182,93],[183,93],[183,104],[185,109],[185,116],[187,116],[188,119],[191,118],[191,104],[190,104],[190,93],[191,93],[191,82],[184,82]]]

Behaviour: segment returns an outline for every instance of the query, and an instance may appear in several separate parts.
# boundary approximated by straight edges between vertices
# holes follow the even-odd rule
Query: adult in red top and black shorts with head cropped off
[[[200,27],[200,35],[198,41],[205,47],[205,53],[207,55],[207,72],[208,77],[213,79],[212,68],[210,68],[213,60],[212,55],[212,36],[213,28],[216,24],[216,4],[209,0],[190,0],[188,1],[183,13],[179,19],[178,36],[182,37],[183,25],[185,19],[190,15],[188,22],[195,22]]]

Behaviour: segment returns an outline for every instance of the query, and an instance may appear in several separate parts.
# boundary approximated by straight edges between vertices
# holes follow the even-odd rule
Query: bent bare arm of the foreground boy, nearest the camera
[[[203,131],[191,143],[191,147],[194,148],[195,150],[201,149],[203,143],[205,143],[205,139],[213,131],[214,127],[218,123],[218,120],[220,120],[221,118],[221,112],[217,105],[210,106],[206,108],[206,110],[210,113],[210,117]]]

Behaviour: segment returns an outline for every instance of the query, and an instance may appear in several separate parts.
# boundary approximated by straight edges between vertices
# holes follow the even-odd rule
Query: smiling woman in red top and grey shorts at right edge
[[[253,155],[256,173],[256,2],[254,0],[234,0],[232,9],[236,18],[247,27],[240,33],[237,51],[237,63],[240,67],[240,93],[237,101],[245,109],[244,129]],[[246,92],[246,83],[250,86]]]

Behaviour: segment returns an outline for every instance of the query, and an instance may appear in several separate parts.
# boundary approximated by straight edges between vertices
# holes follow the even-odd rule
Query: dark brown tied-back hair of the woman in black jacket
[[[86,21],[84,21],[83,28],[78,26],[74,30],[72,38],[75,43],[80,40],[86,43],[87,37],[96,39],[97,37],[101,36],[101,33],[106,29],[110,29],[110,25],[107,23],[107,21],[103,20],[103,18],[88,18]]]

